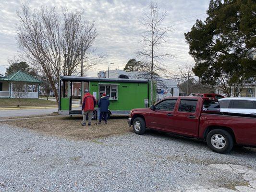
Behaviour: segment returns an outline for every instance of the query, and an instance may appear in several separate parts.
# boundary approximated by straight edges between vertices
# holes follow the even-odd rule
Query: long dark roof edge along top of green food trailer
[[[146,79],[119,79],[119,78],[98,78],[98,77],[77,77],[77,76],[61,76],[62,81],[100,81],[100,82],[127,82],[127,83],[148,83]]]

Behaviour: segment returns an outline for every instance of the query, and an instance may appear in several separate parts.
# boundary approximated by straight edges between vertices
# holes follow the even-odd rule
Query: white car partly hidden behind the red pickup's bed
[[[256,115],[256,97],[227,97],[219,99],[221,112]]]

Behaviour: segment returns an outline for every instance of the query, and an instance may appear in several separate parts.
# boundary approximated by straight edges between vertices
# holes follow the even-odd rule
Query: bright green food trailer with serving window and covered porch
[[[79,94],[84,96],[84,90],[98,100],[100,95],[106,93],[110,100],[108,118],[110,115],[129,115],[133,108],[145,108],[150,103],[150,81],[120,78],[96,78],[61,76],[59,82],[59,114],[82,114],[81,108],[72,108],[73,84],[80,83]],[[153,86],[153,97],[156,97],[156,86]],[[155,99],[153,99],[155,100]],[[97,107],[95,108],[97,116]]]

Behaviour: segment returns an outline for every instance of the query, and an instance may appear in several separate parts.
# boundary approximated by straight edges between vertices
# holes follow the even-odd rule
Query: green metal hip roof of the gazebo
[[[1,81],[12,81],[12,82],[37,83],[37,84],[43,83],[42,81],[33,77],[32,75],[27,74],[22,71],[13,72],[13,73],[7,75],[6,77],[1,77],[0,80]]]

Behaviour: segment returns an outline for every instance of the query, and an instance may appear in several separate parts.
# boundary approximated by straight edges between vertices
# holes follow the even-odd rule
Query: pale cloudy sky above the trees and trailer
[[[0,3],[0,73],[4,74],[8,58],[18,56],[16,41],[17,11],[22,3],[28,3],[32,9],[41,6],[68,7],[70,11],[84,10],[84,19],[95,22],[98,36],[93,44],[97,54],[106,54],[102,63],[86,72],[87,76],[96,76],[98,71],[123,69],[128,60],[136,57],[141,46],[141,33],[144,31],[139,20],[148,10],[150,0],[1,0]],[[184,33],[190,31],[196,19],[205,20],[208,0],[158,0],[160,9],[167,10],[163,21],[171,26],[167,42],[161,50],[174,55],[161,62],[171,72],[179,65],[194,63],[189,55],[189,46]],[[140,58],[135,58],[140,60]],[[113,63],[113,64],[110,64]]]

